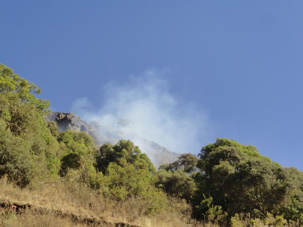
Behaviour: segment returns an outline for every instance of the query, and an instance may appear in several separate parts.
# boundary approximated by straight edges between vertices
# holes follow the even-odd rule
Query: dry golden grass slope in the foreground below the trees
[[[8,205],[28,204],[22,215],[1,216],[0,226],[142,226],[201,227],[191,218],[188,204],[168,199],[167,208],[145,215],[145,201],[128,199],[117,202],[96,190],[78,184],[72,178],[44,183],[37,189],[20,189],[0,179],[0,202]],[[211,227],[211,225],[206,225]]]

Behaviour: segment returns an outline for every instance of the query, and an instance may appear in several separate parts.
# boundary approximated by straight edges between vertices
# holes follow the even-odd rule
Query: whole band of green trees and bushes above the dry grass
[[[302,171],[283,168],[256,147],[218,138],[198,158],[182,154],[156,171],[130,140],[98,150],[86,132],[46,123],[49,103],[35,97],[40,92],[0,64],[0,177],[30,188],[69,179],[113,201],[136,199],[143,214],[163,209],[170,196],[218,225],[303,225]]]

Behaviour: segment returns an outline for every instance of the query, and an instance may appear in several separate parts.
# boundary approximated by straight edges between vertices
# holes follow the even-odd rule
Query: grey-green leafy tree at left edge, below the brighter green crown
[[[58,173],[58,142],[31,103],[0,94],[0,119],[0,175],[23,187]]]

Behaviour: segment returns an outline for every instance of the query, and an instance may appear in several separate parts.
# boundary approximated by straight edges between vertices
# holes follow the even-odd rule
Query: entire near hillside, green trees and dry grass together
[[[254,146],[218,138],[156,170],[130,140],[46,123],[40,92],[0,64],[1,226],[303,225],[303,173]]]

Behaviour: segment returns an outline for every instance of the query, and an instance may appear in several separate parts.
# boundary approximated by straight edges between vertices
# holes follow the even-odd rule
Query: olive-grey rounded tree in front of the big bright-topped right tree
[[[292,186],[278,163],[251,158],[238,165],[229,181],[228,194],[233,201],[228,209],[232,213],[249,212],[252,217],[264,218],[268,212],[278,215],[290,202]]]

